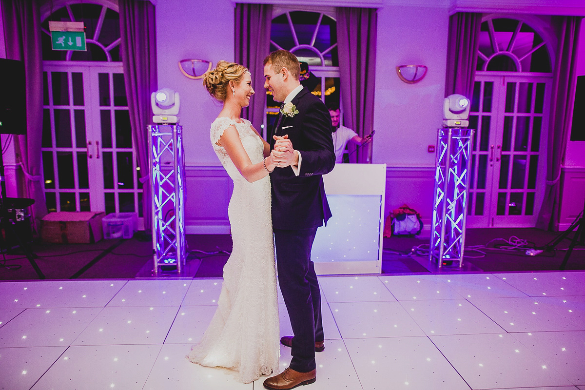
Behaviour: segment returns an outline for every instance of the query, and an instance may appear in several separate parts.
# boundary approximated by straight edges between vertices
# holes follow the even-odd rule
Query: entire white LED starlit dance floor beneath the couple
[[[585,390],[585,271],[319,280],[325,351],[303,389]],[[1,282],[0,388],[262,389],[184,357],[221,282]],[[280,318],[290,334],[282,299]]]

